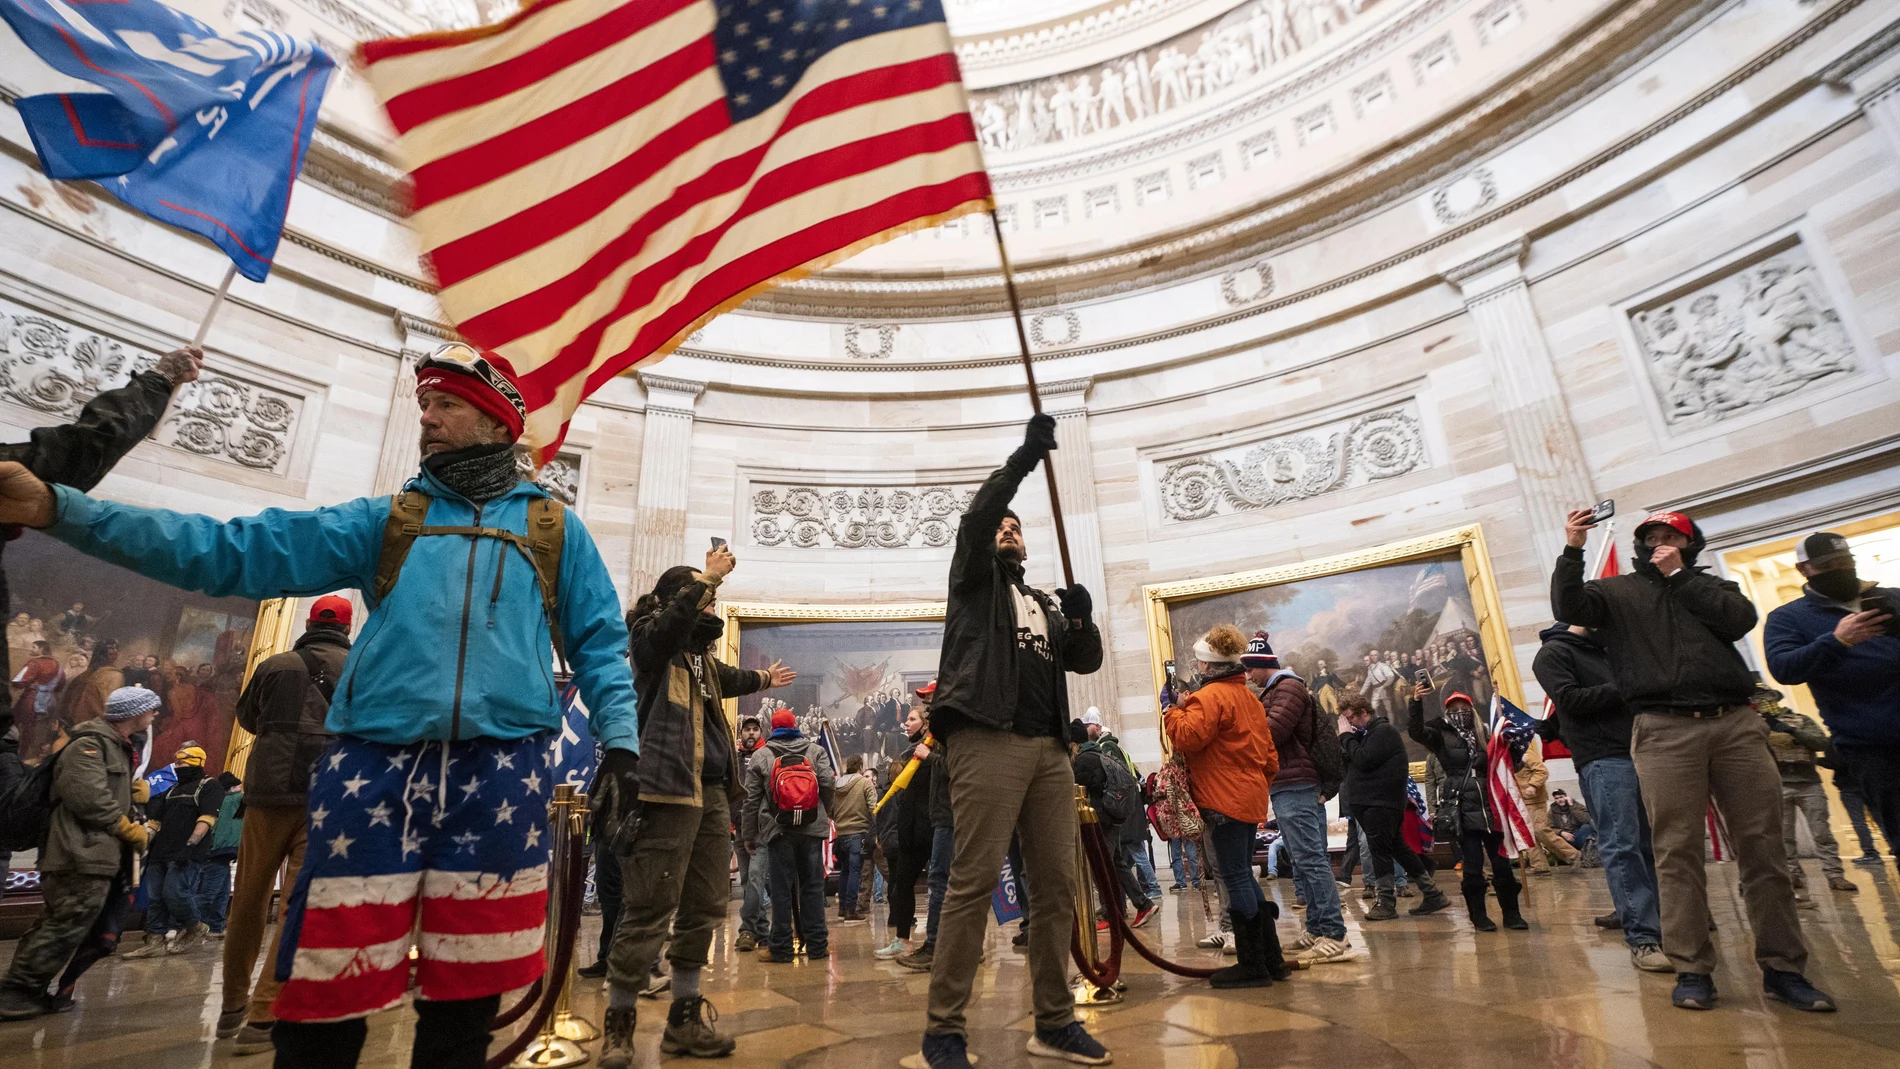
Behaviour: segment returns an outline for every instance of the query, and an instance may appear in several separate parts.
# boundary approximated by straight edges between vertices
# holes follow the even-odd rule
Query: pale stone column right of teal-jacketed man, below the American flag
[[[638,372],[646,387],[640,490],[633,507],[629,602],[659,573],[686,560],[686,497],[692,486],[694,404],[707,384]]]

